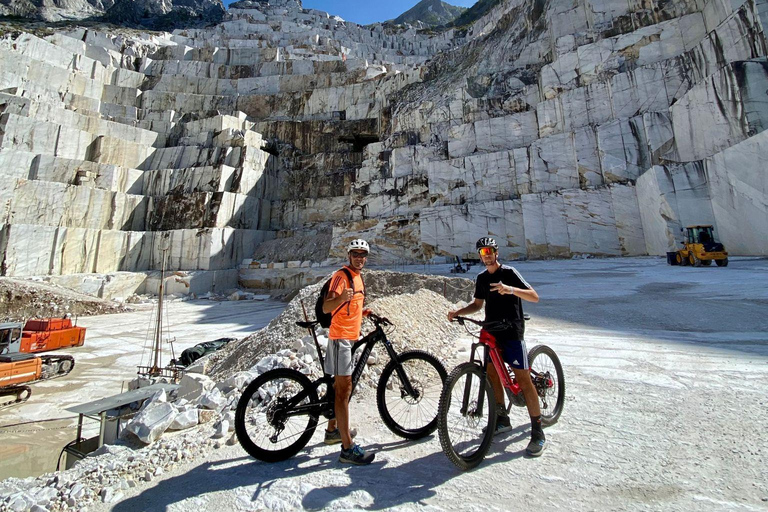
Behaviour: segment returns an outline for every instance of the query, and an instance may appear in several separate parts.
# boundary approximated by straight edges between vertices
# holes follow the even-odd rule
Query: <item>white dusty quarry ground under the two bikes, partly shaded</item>
[[[565,367],[565,411],[546,430],[541,459],[522,455],[523,410],[513,411],[519,427],[462,473],[436,437],[391,434],[364,396],[352,418],[360,443],[377,453],[369,467],[340,465],[320,432],[296,457],[265,464],[211,441],[204,427],[134,452],[131,462],[125,453],[89,461],[97,475],[144,464],[149,481],[126,481],[105,492],[110,503],[88,509],[768,509],[768,260],[735,258],[724,269],[656,258],[515,266],[542,297],[526,307],[529,348],[552,346]],[[446,366],[466,359],[468,342]],[[82,474],[48,478],[48,487],[93,481]],[[0,482],[0,509],[28,487]]]

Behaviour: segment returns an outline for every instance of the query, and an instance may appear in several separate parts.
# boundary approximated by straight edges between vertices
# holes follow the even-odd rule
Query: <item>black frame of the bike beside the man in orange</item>
[[[285,414],[285,417],[290,416],[302,416],[305,414],[309,414],[312,416],[320,417],[321,415],[325,415],[326,417],[330,418],[331,413],[333,412],[333,403],[334,403],[334,394],[332,393],[333,389],[333,375],[330,375],[328,373],[325,373],[325,360],[323,358],[322,353],[320,352],[320,343],[317,341],[317,334],[315,332],[315,325],[316,322],[304,322],[302,325],[308,324],[307,329],[312,334],[312,338],[315,340],[315,346],[317,347],[317,355],[318,359],[320,361],[320,365],[323,368],[323,376],[319,379],[316,379],[312,381],[312,388],[311,390],[304,390],[301,393],[296,394],[294,397],[292,397],[282,409],[282,412]],[[376,343],[381,342],[384,344],[384,347],[387,350],[387,353],[389,354],[389,357],[393,361],[397,361],[397,352],[395,352],[395,348],[392,346],[392,342],[389,341],[389,338],[387,338],[387,334],[384,332],[384,329],[381,327],[381,324],[379,322],[374,322],[376,327],[373,331],[369,332],[367,335],[365,335],[364,338],[358,340],[355,342],[354,345],[352,345],[352,356],[354,357],[355,352],[360,347],[363,347],[363,351],[360,354],[360,357],[357,360],[357,363],[355,363],[355,367],[352,370],[352,393],[350,393],[350,397],[352,394],[354,394],[355,389],[357,389],[357,384],[360,380],[360,377],[363,374],[363,369],[365,368],[365,365],[367,364],[368,358],[371,355],[371,352],[373,351],[373,347],[376,345]],[[330,343],[330,340],[329,340]],[[416,391],[413,386],[411,385],[411,381],[408,379],[407,375],[403,371],[403,368],[401,365],[397,365],[395,368],[397,372],[397,376],[400,378],[400,382],[403,383],[403,386],[405,387],[406,393],[408,393],[410,396],[418,398],[418,391]],[[326,385],[326,400],[325,401],[318,401],[315,403],[309,403],[306,405],[299,405],[302,401],[304,401],[308,396],[310,391],[314,391],[317,393],[317,390],[322,386],[323,384]]]

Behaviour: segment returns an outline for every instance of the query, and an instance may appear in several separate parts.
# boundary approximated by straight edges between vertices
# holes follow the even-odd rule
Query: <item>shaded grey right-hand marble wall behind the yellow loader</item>
[[[545,23],[525,2],[504,5],[482,47],[433,64],[448,79],[428,73],[395,107],[393,133],[409,137],[370,147],[337,256],[353,232],[407,259],[395,221],[418,225],[403,240],[418,238],[425,259],[469,256],[484,234],[507,258],[662,255],[690,224],[733,236],[733,254],[766,254],[765,157],[723,168],[729,148],[763,147],[765,3],[659,3],[642,16],[550,2]],[[731,235],[736,218],[754,231]]]

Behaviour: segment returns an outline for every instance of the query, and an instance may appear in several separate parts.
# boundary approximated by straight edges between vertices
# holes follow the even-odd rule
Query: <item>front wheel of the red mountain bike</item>
[[[495,405],[493,387],[478,365],[460,364],[445,380],[437,431],[443,453],[459,469],[474,468],[488,453],[496,429]]]

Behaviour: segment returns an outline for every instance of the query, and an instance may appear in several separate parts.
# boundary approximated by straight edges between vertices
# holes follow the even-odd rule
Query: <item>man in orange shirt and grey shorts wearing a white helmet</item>
[[[360,271],[365,266],[370,249],[365,240],[352,240],[347,245],[349,265],[346,269],[352,275],[349,282],[344,270],[337,270],[331,277],[328,295],[323,301],[323,311],[331,313],[331,327],[328,330],[328,351],[325,356],[325,372],[334,376],[335,412],[338,434],[341,438],[339,462],[349,464],[370,464],[374,454],[366,453],[360,445],[352,442],[349,430],[349,398],[352,395],[352,346],[360,338],[363,316],[369,309],[363,309],[365,287]],[[333,420],[331,420],[333,421]],[[329,427],[332,425],[329,422]],[[326,443],[334,431],[326,432]],[[338,441],[337,441],[338,442]]]

